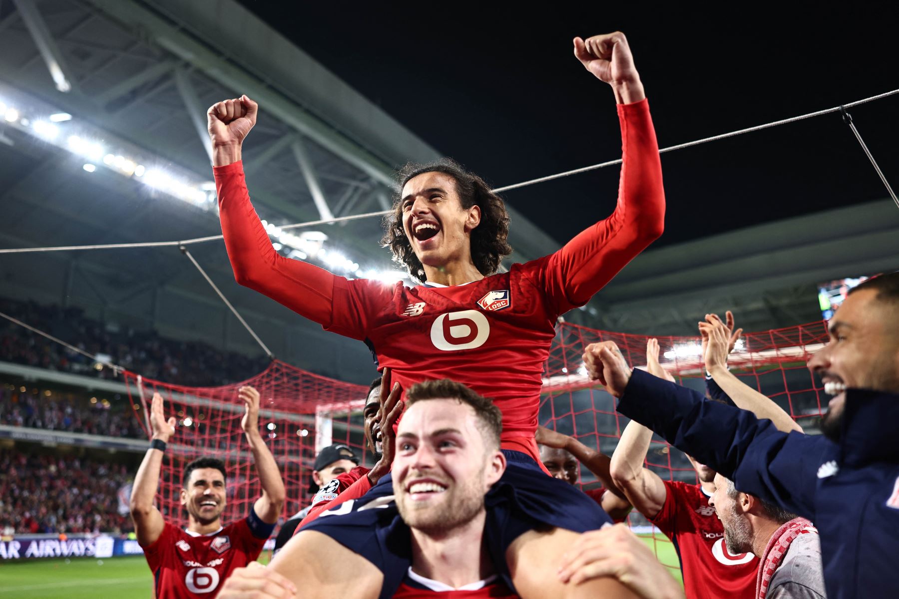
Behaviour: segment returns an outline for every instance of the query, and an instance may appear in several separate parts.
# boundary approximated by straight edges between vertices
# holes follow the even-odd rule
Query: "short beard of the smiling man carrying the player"
[[[472,480],[463,487],[443,491],[440,504],[436,506],[417,505],[404,493],[404,497],[396,502],[396,507],[403,522],[410,528],[438,536],[471,522],[484,510],[484,489],[477,482]]]

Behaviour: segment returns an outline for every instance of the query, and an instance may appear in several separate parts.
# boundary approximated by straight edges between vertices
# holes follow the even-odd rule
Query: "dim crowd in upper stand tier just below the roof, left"
[[[117,366],[147,378],[189,386],[243,381],[265,369],[264,358],[224,352],[206,343],[164,339],[152,331],[121,329],[59,307],[0,298],[0,312],[71,343],[91,355],[103,354]],[[109,368],[17,324],[0,319],[0,361],[111,378]]]

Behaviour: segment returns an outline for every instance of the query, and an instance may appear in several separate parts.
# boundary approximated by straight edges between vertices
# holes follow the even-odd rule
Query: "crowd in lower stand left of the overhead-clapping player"
[[[0,530],[35,533],[129,533],[119,490],[133,473],[90,457],[0,450]]]

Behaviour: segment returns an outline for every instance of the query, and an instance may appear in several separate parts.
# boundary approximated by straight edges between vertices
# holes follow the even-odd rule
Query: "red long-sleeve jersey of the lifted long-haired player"
[[[559,315],[587,301],[663,231],[662,166],[647,101],[619,105],[619,199],[608,218],[553,254],[466,285],[414,287],[347,279],[271,247],[242,163],[215,168],[228,258],[241,285],[364,340],[404,389],[450,378],[503,411],[503,448],[539,462],[543,365]]]

